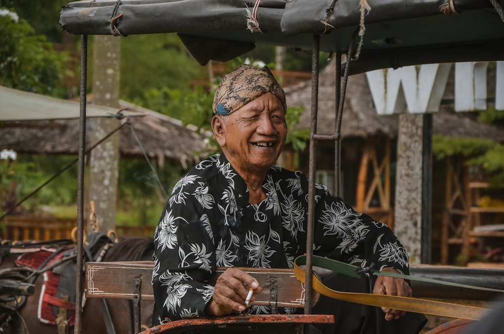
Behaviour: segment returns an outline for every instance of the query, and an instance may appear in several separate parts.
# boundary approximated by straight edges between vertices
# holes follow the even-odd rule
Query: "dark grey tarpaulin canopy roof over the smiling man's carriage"
[[[364,18],[361,57],[353,72],[407,65],[504,60],[504,23],[482,0],[87,0],[62,8],[60,24],[72,34],[179,33],[193,57],[228,61],[270,43],[348,50]],[[494,0],[501,10],[504,0]],[[257,14],[254,7],[257,8]],[[247,27],[247,13],[260,31]]]

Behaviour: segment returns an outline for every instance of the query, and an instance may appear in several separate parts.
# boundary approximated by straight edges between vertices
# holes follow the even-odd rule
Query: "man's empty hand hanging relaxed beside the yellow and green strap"
[[[383,268],[382,271],[397,272],[394,268]],[[391,295],[401,297],[412,297],[413,292],[409,285],[403,279],[396,277],[381,276],[379,275],[374,284],[373,294],[375,295]],[[390,321],[392,319],[399,319],[406,314],[406,311],[393,310],[390,308],[382,307],[385,312],[385,319]]]

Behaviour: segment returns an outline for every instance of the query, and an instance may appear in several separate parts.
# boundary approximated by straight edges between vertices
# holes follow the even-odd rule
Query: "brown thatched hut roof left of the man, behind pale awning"
[[[143,152],[132,129],[151,158],[161,165],[165,160],[179,162],[190,168],[205,155],[206,134],[199,134],[194,126],[184,126],[179,120],[153,112],[131,103],[120,101],[121,109],[140,112],[145,116],[131,117],[130,125],[120,130],[119,150],[123,157],[141,157]],[[117,121],[117,126],[120,122]],[[87,132],[93,121],[87,120]],[[0,149],[18,153],[78,154],[79,120],[45,120],[5,122],[0,127]],[[94,143],[89,140],[86,147]]]

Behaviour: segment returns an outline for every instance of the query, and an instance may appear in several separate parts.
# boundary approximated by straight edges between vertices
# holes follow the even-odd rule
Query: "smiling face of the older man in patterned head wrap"
[[[231,115],[214,119],[217,142],[242,177],[262,175],[275,164],[287,138],[285,110],[277,96],[266,93]]]

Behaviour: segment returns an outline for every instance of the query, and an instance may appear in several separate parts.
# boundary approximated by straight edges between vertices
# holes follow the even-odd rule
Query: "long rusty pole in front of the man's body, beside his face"
[[[311,314],[313,307],[312,295],[312,257],[313,257],[313,226],[315,212],[315,171],[317,165],[317,142],[313,135],[317,132],[317,110],[319,97],[319,53],[320,36],[313,35],[313,50],[311,53],[311,117],[310,143],[308,164],[308,226],[306,228],[306,276],[304,314]]]

